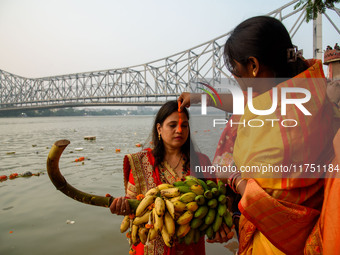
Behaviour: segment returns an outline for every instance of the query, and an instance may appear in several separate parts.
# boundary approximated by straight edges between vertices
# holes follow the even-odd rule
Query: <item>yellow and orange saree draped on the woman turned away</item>
[[[311,99],[304,107],[312,115],[304,115],[294,105],[287,106],[287,114],[281,115],[281,102],[273,114],[253,114],[248,105],[238,122],[275,119],[278,121],[262,127],[238,125],[235,143],[231,150],[237,169],[271,166],[295,166],[298,171],[290,174],[267,172],[249,174],[245,193],[239,203],[240,218],[239,254],[303,254],[305,246],[321,252],[321,239],[317,235],[308,238],[317,222],[323,199],[323,171],[306,174],[306,167],[323,167],[334,156],[332,139],[332,106],[326,97],[326,80],[322,63],[309,60],[309,68],[293,79],[276,86],[278,98],[282,88],[305,88]],[[287,94],[299,98],[301,94]],[[255,109],[270,109],[273,91],[253,98]],[[295,127],[285,127],[282,121],[296,120]],[[267,122],[268,123],[268,122]],[[287,122],[285,122],[287,123]],[[227,127],[228,128],[228,127]],[[228,137],[226,136],[228,139]],[[300,168],[301,166],[301,168]],[[300,169],[301,172],[300,172]],[[309,243],[306,243],[307,239]],[[315,253],[317,254],[317,253]]]

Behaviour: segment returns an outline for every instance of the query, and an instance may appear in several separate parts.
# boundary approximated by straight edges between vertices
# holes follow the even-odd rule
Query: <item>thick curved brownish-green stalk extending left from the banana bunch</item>
[[[53,144],[47,157],[47,173],[50,177],[50,180],[57,190],[61,191],[66,196],[73,198],[74,200],[85,204],[109,207],[114,200],[114,197],[97,196],[80,191],[70,185],[60,173],[59,159],[69,144],[70,141],[68,140],[59,140]],[[128,202],[132,211],[135,211],[138,207],[138,204],[140,203],[140,201],[136,199],[128,199]]]

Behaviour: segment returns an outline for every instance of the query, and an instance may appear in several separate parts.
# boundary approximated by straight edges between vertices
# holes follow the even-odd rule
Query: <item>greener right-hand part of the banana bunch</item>
[[[184,193],[170,200],[179,215],[176,233],[180,242],[197,242],[204,234],[212,239],[223,222],[232,227],[232,217],[226,205],[227,189],[221,181],[215,183],[187,176],[185,181],[173,185]]]

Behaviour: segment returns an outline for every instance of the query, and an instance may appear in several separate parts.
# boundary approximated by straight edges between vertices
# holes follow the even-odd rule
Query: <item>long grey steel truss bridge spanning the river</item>
[[[291,28],[286,25],[291,37],[306,15],[303,8],[294,10],[297,2],[291,1],[267,14],[281,21],[293,18]],[[335,11],[340,17],[339,9],[328,11]],[[330,17],[324,16],[340,34]],[[317,57],[322,41],[318,40],[320,24],[314,23],[313,47]],[[223,45],[229,34],[156,61],[121,69],[35,79],[0,70],[0,112],[80,106],[153,106],[175,99],[183,91],[198,92],[197,86],[191,86],[198,81],[218,86],[222,79],[228,79],[230,84],[235,84],[223,59]]]

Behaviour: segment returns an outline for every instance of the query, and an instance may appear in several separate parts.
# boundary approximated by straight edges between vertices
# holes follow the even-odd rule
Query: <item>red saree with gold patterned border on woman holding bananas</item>
[[[210,160],[204,154],[198,153],[200,164],[211,165]],[[136,198],[138,194],[145,194],[149,189],[162,183],[172,184],[180,180],[177,174],[168,164],[164,167],[154,167],[155,158],[150,148],[135,154],[128,154],[124,158],[124,185],[125,193],[129,198]],[[190,173],[187,173],[190,175]],[[197,244],[185,245],[175,244],[174,247],[167,247],[160,235],[149,245],[138,244],[134,247],[137,255],[195,255],[205,254],[205,240],[201,237]]]

